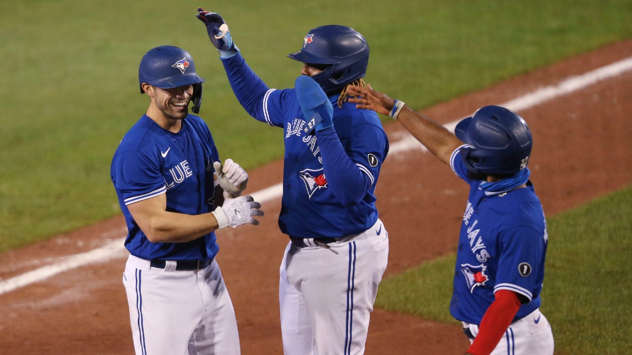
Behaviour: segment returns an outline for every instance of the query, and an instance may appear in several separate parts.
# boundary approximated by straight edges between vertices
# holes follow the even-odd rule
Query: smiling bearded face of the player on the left
[[[151,98],[147,116],[164,129],[179,129],[179,121],[189,114],[188,105],[193,95],[193,85],[168,89],[147,83],[142,85],[143,90]]]

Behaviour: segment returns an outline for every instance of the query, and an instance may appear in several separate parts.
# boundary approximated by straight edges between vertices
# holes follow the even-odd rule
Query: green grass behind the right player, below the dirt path
[[[556,354],[629,354],[632,188],[549,218],[548,228],[542,312]],[[454,262],[447,255],[383,280],[375,306],[457,324],[448,311]]]

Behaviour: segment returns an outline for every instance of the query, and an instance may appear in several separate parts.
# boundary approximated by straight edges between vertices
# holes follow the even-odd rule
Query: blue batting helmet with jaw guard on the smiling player
[[[185,50],[173,45],[161,45],[150,49],[143,56],[138,67],[140,93],[144,93],[143,83],[159,88],[176,88],[193,85],[193,109],[198,113],[202,100],[204,79],[195,73],[193,58]]]

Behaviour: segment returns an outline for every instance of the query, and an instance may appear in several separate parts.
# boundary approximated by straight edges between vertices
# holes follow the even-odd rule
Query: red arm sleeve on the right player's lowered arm
[[[489,355],[502,338],[518,310],[518,294],[509,290],[499,290],[489,305],[478,326],[478,334],[468,352],[473,355]]]

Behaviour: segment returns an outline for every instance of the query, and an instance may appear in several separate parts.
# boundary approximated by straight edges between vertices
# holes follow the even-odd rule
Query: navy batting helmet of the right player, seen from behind
[[[525,169],[533,138],[525,120],[500,106],[485,106],[463,119],[454,129],[468,144],[461,157],[468,171],[481,174],[514,174]]]

